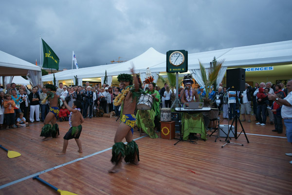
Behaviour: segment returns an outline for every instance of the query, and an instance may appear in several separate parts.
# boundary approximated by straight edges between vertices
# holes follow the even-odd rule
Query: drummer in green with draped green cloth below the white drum
[[[142,129],[151,138],[158,137],[155,130],[160,131],[160,95],[158,91],[154,90],[155,86],[155,82],[151,82],[148,86],[149,89],[145,92],[153,98],[151,110],[138,110],[136,114],[138,128]]]

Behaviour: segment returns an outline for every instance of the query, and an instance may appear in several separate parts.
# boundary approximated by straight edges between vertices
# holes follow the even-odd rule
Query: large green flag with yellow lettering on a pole
[[[59,58],[51,49],[51,47],[43,40],[43,51],[44,51],[44,62],[43,62],[43,68],[54,68],[56,70],[59,70]]]

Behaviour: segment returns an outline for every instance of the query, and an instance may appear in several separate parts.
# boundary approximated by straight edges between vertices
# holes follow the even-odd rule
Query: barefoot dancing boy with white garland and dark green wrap
[[[69,125],[71,128],[64,136],[63,150],[58,155],[65,155],[66,154],[68,140],[73,139],[73,138],[75,139],[77,146],[79,148],[78,152],[82,153],[81,141],[79,139],[81,131],[82,131],[81,123],[84,122],[84,118],[81,114],[82,104],[78,100],[73,102],[72,108],[67,104],[66,101],[64,101],[64,104],[68,108],[68,110],[71,112],[70,117],[69,117]]]

